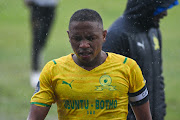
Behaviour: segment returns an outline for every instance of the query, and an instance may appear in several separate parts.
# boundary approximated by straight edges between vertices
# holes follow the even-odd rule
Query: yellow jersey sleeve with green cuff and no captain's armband
[[[31,98],[31,104],[50,107],[51,104],[55,102],[55,95],[52,87],[52,66],[53,62],[51,61],[43,68],[35,93]]]

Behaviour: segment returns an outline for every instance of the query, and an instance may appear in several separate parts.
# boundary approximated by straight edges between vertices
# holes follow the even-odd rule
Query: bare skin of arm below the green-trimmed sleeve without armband
[[[50,107],[31,105],[27,120],[44,120]]]

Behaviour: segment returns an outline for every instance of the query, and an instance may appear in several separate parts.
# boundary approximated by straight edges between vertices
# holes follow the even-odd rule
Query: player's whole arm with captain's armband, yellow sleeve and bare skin
[[[146,81],[142,75],[140,67],[135,61],[129,62],[130,71],[130,87],[129,87],[129,102],[135,113],[137,120],[152,120],[148,90],[146,88]]]

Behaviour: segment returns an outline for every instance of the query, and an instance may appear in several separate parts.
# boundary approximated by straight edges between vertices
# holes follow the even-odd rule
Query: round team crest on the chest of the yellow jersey
[[[115,89],[116,86],[111,85],[112,79],[109,75],[102,75],[99,78],[99,82],[100,82],[101,86],[96,86],[97,91],[102,91],[103,89],[108,89],[111,91],[116,90]]]

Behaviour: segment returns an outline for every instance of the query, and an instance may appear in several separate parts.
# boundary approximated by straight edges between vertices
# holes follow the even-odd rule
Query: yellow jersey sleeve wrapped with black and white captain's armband
[[[137,63],[130,70],[129,102],[133,106],[144,104],[148,101],[148,90],[142,71]]]

